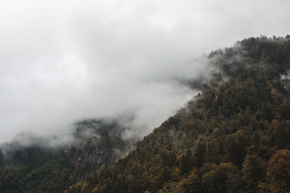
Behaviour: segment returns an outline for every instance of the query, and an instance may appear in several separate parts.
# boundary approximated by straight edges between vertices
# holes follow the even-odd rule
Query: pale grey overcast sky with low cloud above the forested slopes
[[[0,0],[0,142],[86,118],[149,134],[198,91],[203,53],[290,34],[289,0]]]

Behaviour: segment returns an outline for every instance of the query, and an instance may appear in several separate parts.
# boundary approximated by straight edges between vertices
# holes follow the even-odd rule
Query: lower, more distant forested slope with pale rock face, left
[[[117,120],[100,119],[76,123],[64,139],[20,134],[1,145],[0,192],[63,192],[125,156],[133,139],[123,139],[124,129]]]

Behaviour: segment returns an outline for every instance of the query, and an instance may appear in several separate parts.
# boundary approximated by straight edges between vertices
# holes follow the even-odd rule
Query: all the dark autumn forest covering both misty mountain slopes
[[[3,144],[0,192],[289,192],[290,36],[206,57],[200,93],[130,151],[125,128],[101,120],[79,122],[68,146]]]

